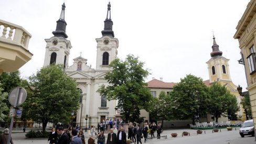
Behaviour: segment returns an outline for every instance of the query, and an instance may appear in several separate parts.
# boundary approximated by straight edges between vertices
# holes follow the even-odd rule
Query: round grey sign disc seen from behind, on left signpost
[[[8,100],[13,106],[23,104],[27,98],[27,91],[23,87],[16,87],[9,93]]]

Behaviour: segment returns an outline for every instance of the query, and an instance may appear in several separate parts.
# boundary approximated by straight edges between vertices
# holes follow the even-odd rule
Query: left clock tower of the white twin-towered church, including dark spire
[[[62,4],[60,18],[57,22],[56,30],[52,32],[54,37],[45,39],[46,51],[44,66],[50,64],[62,64],[64,68],[68,67],[69,51],[71,43],[67,40],[66,34],[67,22],[65,21],[65,3]]]

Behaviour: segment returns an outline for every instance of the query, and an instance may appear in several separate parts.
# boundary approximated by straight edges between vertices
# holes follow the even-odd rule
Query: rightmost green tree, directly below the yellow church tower
[[[221,86],[220,83],[215,82],[210,86],[209,90],[209,112],[216,118],[216,122],[218,122],[220,115],[231,117],[239,111],[236,96],[231,94],[225,86]]]

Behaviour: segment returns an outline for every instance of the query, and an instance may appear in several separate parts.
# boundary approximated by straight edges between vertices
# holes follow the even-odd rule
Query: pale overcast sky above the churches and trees
[[[45,39],[51,38],[60,17],[63,0],[2,0],[0,19],[24,27],[31,35],[28,49],[34,54],[20,71],[35,74],[44,64]],[[146,81],[155,77],[179,82],[187,74],[209,79],[206,62],[211,58],[212,30],[222,56],[230,59],[235,85],[247,87],[240,49],[233,39],[236,26],[250,0],[111,0],[118,57],[134,54],[151,69]],[[104,28],[109,0],[66,0],[66,33],[70,40],[69,66],[73,58],[88,59],[95,68],[97,42]],[[1,32],[1,29],[0,29]]]

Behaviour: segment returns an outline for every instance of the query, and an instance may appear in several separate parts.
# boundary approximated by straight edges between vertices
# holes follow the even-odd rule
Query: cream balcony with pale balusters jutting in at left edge
[[[0,75],[18,70],[31,59],[30,38],[23,27],[0,19]]]

